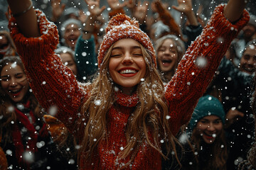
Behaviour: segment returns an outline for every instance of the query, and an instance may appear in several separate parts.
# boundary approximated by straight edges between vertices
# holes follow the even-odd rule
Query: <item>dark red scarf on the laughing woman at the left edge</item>
[[[23,105],[25,108],[30,108],[30,101]],[[23,159],[23,153],[26,152],[37,152],[36,143],[38,142],[38,136],[46,136],[48,135],[48,131],[46,130],[46,123],[43,123],[43,126],[38,133],[34,127],[34,123],[36,122],[36,118],[33,114],[33,111],[29,111],[29,114],[32,118],[32,123],[28,120],[28,116],[15,108],[17,122],[21,122],[23,127],[28,130],[28,135],[31,137],[31,140],[28,140],[28,144],[23,146],[23,140],[21,137],[21,130],[18,128],[18,124],[14,123],[12,126],[12,137],[15,146],[16,159],[18,159],[19,164],[26,164],[28,167],[28,163]]]

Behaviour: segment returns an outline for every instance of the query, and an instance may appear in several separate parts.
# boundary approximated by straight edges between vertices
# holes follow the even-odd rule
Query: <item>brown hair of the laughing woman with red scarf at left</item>
[[[21,67],[23,72],[25,72],[21,59],[17,56],[11,56],[4,57],[2,60],[0,60],[0,73],[4,66],[11,63],[16,63],[19,67]],[[36,97],[29,91],[25,97],[28,98],[28,101],[31,101],[31,109],[35,117],[40,118],[43,122],[42,108],[38,104]],[[14,107],[16,107],[14,101],[11,101],[11,98],[9,98],[9,96],[3,91],[0,84],[0,136],[2,137],[1,142],[4,144],[4,146],[8,142],[12,141],[11,123],[16,122],[16,113]]]

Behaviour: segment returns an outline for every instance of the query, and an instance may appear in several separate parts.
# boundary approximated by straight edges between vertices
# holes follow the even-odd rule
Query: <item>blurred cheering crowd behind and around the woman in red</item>
[[[157,69],[165,84],[207,23],[202,13],[204,7],[194,11],[190,0],[177,0],[176,6],[139,0],[107,0],[107,6],[99,1],[93,5],[86,2],[90,6],[88,11],[66,7],[61,0],[48,2],[48,19],[58,27],[59,34],[55,53],[81,83],[94,80],[106,25],[119,13],[134,18],[151,39]],[[178,21],[169,8],[179,13]],[[107,16],[101,15],[106,11]],[[11,13],[6,11],[6,18],[10,17]],[[38,103],[9,29],[3,28],[6,29],[0,31],[0,169],[18,169],[21,164],[31,164],[30,169],[77,169],[77,140],[51,116],[56,108],[45,111]],[[222,38],[218,40],[225,43]],[[201,67],[207,65],[207,60],[197,62]],[[178,159],[173,155],[163,159],[162,169],[256,169],[256,156],[250,154],[256,152],[255,71],[256,16],[250,13],[249,23],[231,43],[190,123],[176,136]],[[35,148],[33,157],[26,157],[26,147]]]

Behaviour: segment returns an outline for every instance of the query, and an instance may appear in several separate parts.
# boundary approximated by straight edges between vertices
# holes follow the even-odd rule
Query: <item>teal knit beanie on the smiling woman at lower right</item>
[[[207,115],[217,115],[225,123],[225,111],[218,98],[207,95],[199,98],[198,104],[193,112],[188,128],[193,130],[196,123]]]

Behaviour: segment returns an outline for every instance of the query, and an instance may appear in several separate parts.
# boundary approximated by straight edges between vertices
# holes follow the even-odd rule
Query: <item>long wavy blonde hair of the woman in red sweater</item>
[[[143,143],[139,141],[145,142],[144,137],[150,147],[156,149],[164,158],[167,158],[161,152],[162,146],[160,145],[159,134],[166,141],[164,147],[166,147],[167,152],[169,153],[172,150],[176,154],[175,142],[177,140],[170,130],[169,121],[166,119],[169,111],[164,99],[164,84],[159,77],[156,67],[154,67],[150,52],[142,45],[140,46],[146,62],[146,75],[144,82],[137,85],[136,92],[139,96],[139,103],[127,123],[127,146],[119,154],[120,159],[130,155],[131,159],[129,162],[134,160],[139,146]],[[102,67],[100,67],[100,74],[90,85],[90,96],[81,108],[81,113],[89,116],[81,143],[80,154],[78,154],[83,154],[84,160],[90,160],[91,155],[96,152],[100,141],[107,140],[107,112],[114,103],[114,86],[116,86],[110,77],[108,68],[112,48],[113,45],[107,51]],[[151,93],[151,91],[154,91],[154,93]],[[92,104],[99,99],[102,101],[100,106]],[[149,140],[148,130],[151,131],[153,140]],[[95,138],[97,139],[96,142]]]

